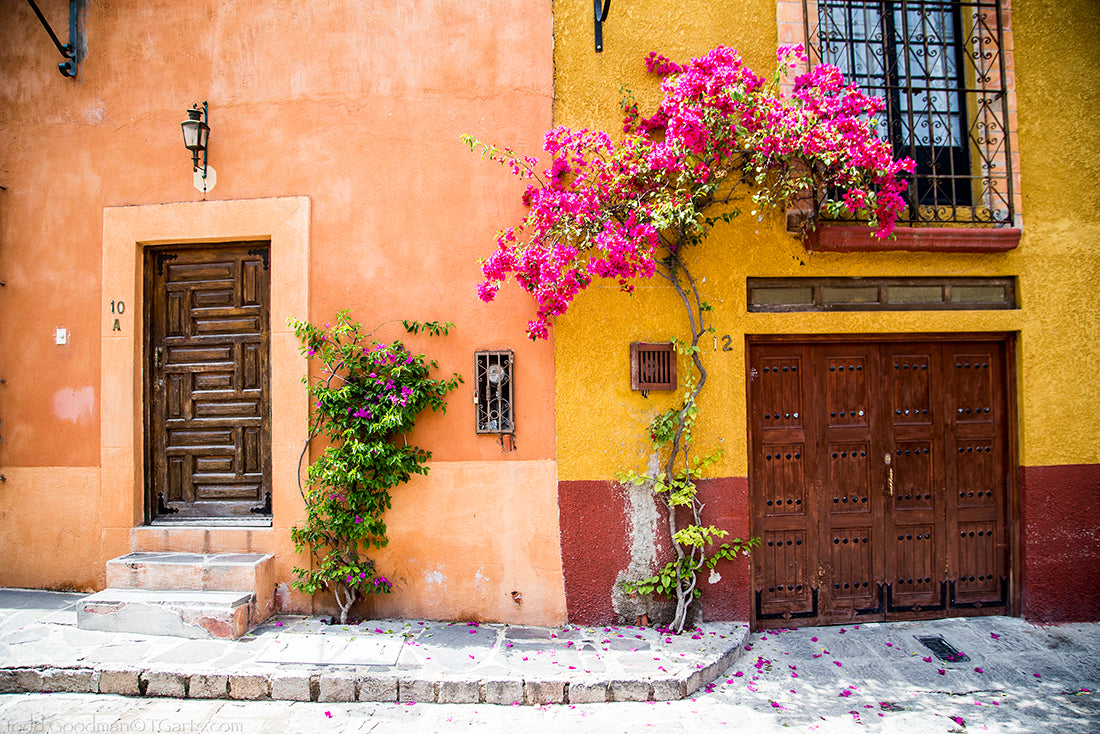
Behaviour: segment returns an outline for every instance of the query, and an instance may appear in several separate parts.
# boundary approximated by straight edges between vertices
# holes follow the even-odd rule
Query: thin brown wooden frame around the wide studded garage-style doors
[[[752,456],[752,388],[750,384],[751,361],[749,349],[768,344],[822,344],[822,343],[884,343],[884,342],[936,342],[950,341],[987,341],[1002,344],[1004,349],[1004,385],[1005,395],[1005,445],[1008,465],[1004,468],[1008,480],[1005,495],[1005,538],[1008,540],[1009,593],[1007,613],[1019,616],[1022,610],[1022,530],[1020,517],[1020,424],[1018,396],[1018,354],[1016,340],[1019,332],[1014,331],[957,331],[957,332],[876,332],[876,333],[746,333],[745,335],[745,420],[747,454],[747,481],[749,496],[749,535],[757,536],[756,507],[752,478],[756,474]],[[749,615],[752,629],[762,628],[756,618],[756,604],[751,602],[756,589],[756,563],[749,565]],[[766,626],[774,626],[766,625]]]

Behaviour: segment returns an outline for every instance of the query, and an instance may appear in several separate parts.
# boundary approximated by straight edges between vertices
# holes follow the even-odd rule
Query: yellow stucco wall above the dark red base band
[[[557,124],[618,129],[620,85],[634,90],[644,112],[651,110],[659,90],[641,63],[651,50],[686,61],[722,43],[740,50],[758,73],[773,67],[774,0],[623,4],[612,8],[604,52],[597,54],[591,8],[554,3]],[[693,272],[715,306],[718,349],[712,342],[704,352],[710,375],[696,431],[705,438],[697,448],[726,450],[713,475],[747,474],[744,344],[746,335],[758,333],[1018,332],[1020,463],[1100,462],[1100,146],[1089,119],[1090,110],[1100,109],[1100,75],[1090,47],[1100,22],[1090,2],[1021,4],[1012,20],[1023,191],[1016,250],[807,253],[783,231],[780,216],[756,221],[747,211],[698,249]],[[1067,7],[1076,7],[1082,22],[1072,37],[1065,33]],[[1020,308],[749,314],[750,276],[1016,276]],[[644,398],[629,390],[629,343],[686,333],[682,306],[656,280],[638,284],[632,296],[597,284],[558,320],[560,479],[610,479],[645,465],[644,428],[672,398],[657,393]],[[730,351],[721,349],[726,335]]]

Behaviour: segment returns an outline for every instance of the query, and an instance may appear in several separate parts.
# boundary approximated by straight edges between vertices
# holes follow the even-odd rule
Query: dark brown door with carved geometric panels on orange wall
[[[266,243],[146,252],[148,519],[271,514]]]

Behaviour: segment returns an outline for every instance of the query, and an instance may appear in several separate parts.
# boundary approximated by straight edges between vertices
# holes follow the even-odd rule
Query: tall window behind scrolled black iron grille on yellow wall
[[[916,162],[909,223],[1013,223],[998,0],[803,0],[812,63],[882,97],[879,134]],[[903,222],[904,223],[904,222]]]

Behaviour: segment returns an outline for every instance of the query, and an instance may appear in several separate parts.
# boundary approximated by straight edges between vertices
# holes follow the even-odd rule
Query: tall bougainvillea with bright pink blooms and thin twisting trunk
[[[472,151],[480,149],[528,182],[522,196],[528,213],[497,235],[496,250],[482,262],[479,295],[493,300],[514,278],[536,302],[529,338],[547,338],[551,320],[594,278],[630,292],[636,278],[656,275],[684,305],[691,338],[679,347],[697,377],[682,404],[650,426],[662,461],[661,475],[652,481],[668,507],[676,559],[637,587],[676,599],[675,632],[696,595],[700,563],[718,552],[698,549],[722,537],[700,524],[697,512],[693,523],[676,526],[678,507],[700,506],[694,482],[713,460],[690,456],[691,421],[706,383],[698,342],[711,330],[711,305],[690,269],[692,245],[719,221],[738,216],[736,205],[748,195],[757,217],[811,201],[807,228],[821,215],[858,215],[875,237],[888,238],[904,209],[904,174],[914,167],[909,158],[893,160],[890,145],[875,133],[882,100],[848,84],[835,66],[818,65],[784,91],[782,81],[805,61],[802,46],[782,47],[776,73],[765,79],[733,48],[718,47],[683,65],[652,53],[646,65],[661,77],[663,92],[657,110],[642,117],[628,94],[620,134],[551,130],[543,143],[550,163],[541,171],[535,157],[464,136]],[[659,443],[657,429],[663,430]],[[690,499],[680,492],[688,485]]]

